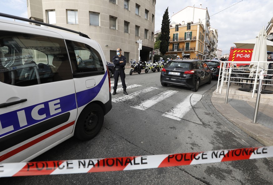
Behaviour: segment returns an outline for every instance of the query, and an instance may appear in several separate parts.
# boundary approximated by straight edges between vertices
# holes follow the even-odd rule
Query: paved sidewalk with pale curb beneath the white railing
[[[264,87],[264,86],[263,86]],[[239,85],[232,83],[229,89],[228,101],[226,98],[226,84],[222,87],[221,94],[216,90],[211,97],[211,103],[235,126],[240,128],[251,138],[264,146],[273,146],[273,94],[261,94],[259,112],[256,123],[251,123],[254,117],[255,102],[257,93],[252,98],[252,93],[238,90]],[[266,86],[272,90],[272,86]]]

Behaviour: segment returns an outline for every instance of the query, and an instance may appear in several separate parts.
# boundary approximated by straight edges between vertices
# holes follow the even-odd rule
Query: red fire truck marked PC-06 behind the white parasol
[[[243,48],[236,48],[231,47],[230,48],[230,57],[228,61],[236,62],[236,61],[245,61],[250,62],[252,57],[253,49],[243,49]],[[236,64],[237,67],[249,65],[249,63],[240,63]]]

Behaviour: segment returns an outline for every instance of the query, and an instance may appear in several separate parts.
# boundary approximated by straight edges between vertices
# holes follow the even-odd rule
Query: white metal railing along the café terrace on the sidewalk
[[[218,90],[219,90],[219,93],[221,94],[223,84],[228,83],[230,68],[231,68],[231,75],[233,74],[231,78],[234,79],[234,81],[230,81],[230,83],[239,83],[242,86],[244,84],[248,84],[251,87],[250,92],[252,92],[252,98],[254,97],[254,93],[257,90],[256,87],[258,85],[259,75],[260,75],[260,72],[262,69],[265,68],[265,76],[266,76],[266,78],[264,78],[264,81],[266,82],[266,84],[263,84],[263,85],[273,86],[273,84],[271,84],[273,79],[269,78],[270,76],[272,76],[271,73],[273,73],[273,69],[267,69],[268,63],[269,63],[268,61],[251,62],[251,63],[255,63],[257,65],[256,69],[251,69],[248,66],[236,67],[237,65],[242,65],[242,64],[246,64],[246,63],[250,63],[250,62],[222,61],[221,63],[223,65],[220,65],[220,73],[219,73],[219,77],[218,77],[216,93],[218,93]],[[253,73],[250,73],[251,71]],[[251,75],[251,77],[250,77],[250,75]],[[220,89],[219,89],[219,86],[220,86]]]

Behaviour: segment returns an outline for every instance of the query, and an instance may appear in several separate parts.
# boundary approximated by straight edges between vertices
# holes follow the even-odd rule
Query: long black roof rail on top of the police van
[[[86,34],[84,34],[82,32],[78,32],[78,31],[71,30],[71,29],[64,28],[64,27],[60,27],[60,26],[55,26],[55,25],[48,24],[48,23],[45,23],[45,22],[35,21],[35,20],[32,20],[32,19],[18,17],[18,16],[15,16],[15,15],[9,15],[9,14],[6,14],[6,13],[1,13],[1,12],[0,12],[0,17],[7,17],[7,18],[20,20],[20,21],[32,22],[32,23],[35,23],[35,24],[40,24],[40,25],[44,25],[44,26],[48,26],[48,27],[54,27],[54,28],[57,28],[57,29],[68,31],[68,32],[77,33],[77,34],[79,34],[79,36],[89,38],[88,35],[86,35]]]

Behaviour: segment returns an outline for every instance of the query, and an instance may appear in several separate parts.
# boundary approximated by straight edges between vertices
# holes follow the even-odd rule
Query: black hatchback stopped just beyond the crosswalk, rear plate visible
[[[200,85],[210,84],[212,72],[202,60],[171,60],[160,74],[162,86],[177,85],[196,92]]]

